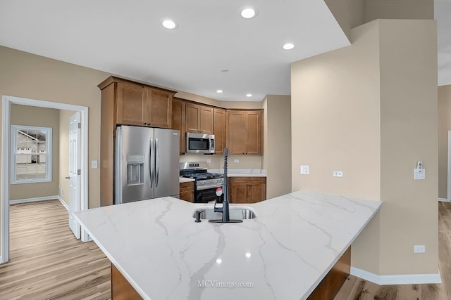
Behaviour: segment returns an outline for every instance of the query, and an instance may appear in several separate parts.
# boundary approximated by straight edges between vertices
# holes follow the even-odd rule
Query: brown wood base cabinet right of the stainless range
[[[266,177],[230,177],[230,203],[256,203],[266,200]]]

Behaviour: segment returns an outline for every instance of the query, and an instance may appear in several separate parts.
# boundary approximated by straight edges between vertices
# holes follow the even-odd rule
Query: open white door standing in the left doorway
[[[69,119],[69,227],[78,239],[80,238],[80,224],[73,218],[73,212],[80,210],[81,203],[80,124],[81,114],[75,112]]]

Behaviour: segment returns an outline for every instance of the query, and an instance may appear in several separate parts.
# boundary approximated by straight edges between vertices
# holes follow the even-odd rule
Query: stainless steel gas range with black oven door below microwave
[[[216,188],[222,188],[223,174],[209,173],[204,162],[180,163],[180,176],[194,179],[194,202],[223,202],[223,195],[216,196]]]

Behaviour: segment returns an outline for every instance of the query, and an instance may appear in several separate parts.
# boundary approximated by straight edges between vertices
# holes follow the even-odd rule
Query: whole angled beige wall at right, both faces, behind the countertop
[[[293,190],[384,202],[354,267],[438,272],[436,55],[435,21],[376,20],[352,30],[352,46],[292,64]],[[425,181],[413,180],[419,159]]]

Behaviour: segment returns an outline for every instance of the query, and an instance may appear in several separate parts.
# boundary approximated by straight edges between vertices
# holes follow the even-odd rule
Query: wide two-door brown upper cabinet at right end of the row
[[[226,147],[230,155],[261,155],[263,111],[227,110]]]

